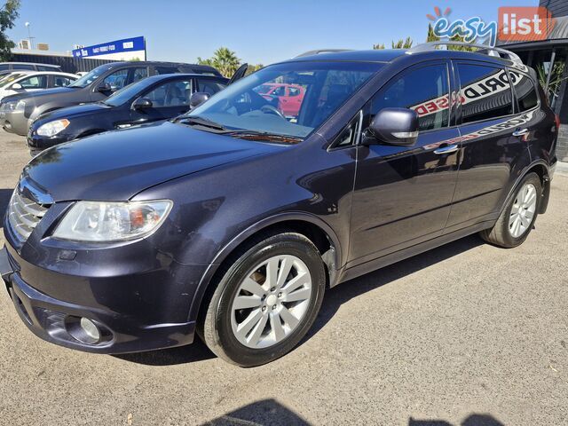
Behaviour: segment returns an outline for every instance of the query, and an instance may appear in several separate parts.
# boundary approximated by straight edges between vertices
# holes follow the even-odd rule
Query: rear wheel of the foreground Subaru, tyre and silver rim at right
[[[527,188],[533,193],[534,200],[529,206],[525,202]],[[536,173],[527,174],[515,189],[515,195],[511,197],[507,206],[501,212],[493,228],[485,229],[481,238],[485,241],[502,248],[513,248],[522,244],[533,229],[534,222],[540,209],[542,184]],[[527,199],[528,200],[528,199]],[[520,210],[520,215],[517,213]],[[517,220],[517,222],[515,222]]]

